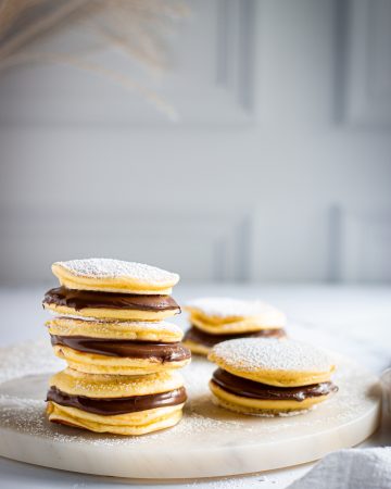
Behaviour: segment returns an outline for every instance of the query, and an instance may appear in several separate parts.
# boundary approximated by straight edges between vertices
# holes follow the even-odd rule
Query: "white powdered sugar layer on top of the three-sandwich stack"
[[[89,278],[122,278],[128,277],[144,284],[173,284],[179,280],[179,275],[166,272],[143,263],[124,262],[113,259],[85,259],[55,262],[77,277]]]

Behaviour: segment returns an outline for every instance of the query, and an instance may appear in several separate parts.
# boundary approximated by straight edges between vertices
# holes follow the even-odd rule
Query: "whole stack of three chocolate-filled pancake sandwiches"
[[[180,312],[171,297],[179,276],[133,262],[73,260],[52,265],[60,287],[45,309],[54,353],[67,368],[50,379],[54,423],[98,432],[143,435],[174,426],[187,399],[178,368],[190,362]]]

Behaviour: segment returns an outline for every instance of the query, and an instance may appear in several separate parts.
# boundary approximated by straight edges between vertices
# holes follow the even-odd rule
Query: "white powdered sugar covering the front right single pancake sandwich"
[[[265,338],[241,338],[218,343],[212,350],[212,360],[243,372],[327,372],[332,365],[329,355],[312,344]]]

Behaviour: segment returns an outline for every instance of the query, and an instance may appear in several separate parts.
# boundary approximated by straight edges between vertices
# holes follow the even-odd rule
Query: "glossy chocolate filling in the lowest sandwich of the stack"
[[[53,401],[60,405],[76,408],[88,413],[111,416],[115,414],[136,413],[137,411],[153,410],[177,405],[187,399],[185,387],[168,392],[160,392],[147,396],[134,396],[131,398],[87,398],[86,396],[72,396],[62,392],[51,386],[47,401]]]

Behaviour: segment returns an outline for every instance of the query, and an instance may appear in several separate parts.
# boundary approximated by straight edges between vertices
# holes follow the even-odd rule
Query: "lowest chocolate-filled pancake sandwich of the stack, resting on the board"
[[[143,435],[178,423],[186,390],[174,373],[117,377],[67,368],[50,379],[47,400],[53,423],[98,432]]]

